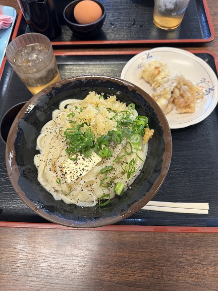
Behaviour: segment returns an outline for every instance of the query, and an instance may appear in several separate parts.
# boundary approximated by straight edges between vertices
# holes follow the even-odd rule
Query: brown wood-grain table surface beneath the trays
[[[1,0],[0,4],[19,12],[16,0]],[[217,33],[218,1],[208,0],[207,4]],[[218,55],[216,37],[208,43],[188,45],[177,47]],[[125,48],[133,49],[140,52],[145,46]],[[0,227],[1,291],[218,290],[215,229],[29,226],[6,223]]]

